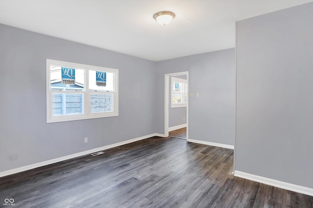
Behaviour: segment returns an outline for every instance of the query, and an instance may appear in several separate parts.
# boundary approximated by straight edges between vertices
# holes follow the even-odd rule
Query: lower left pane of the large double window
[[[53,116],[83,113],[83,94],[53,93]]]

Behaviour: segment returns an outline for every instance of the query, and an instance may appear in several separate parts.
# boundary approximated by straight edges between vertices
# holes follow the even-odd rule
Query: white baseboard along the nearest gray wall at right
[[[262,176],[258,176],[258,175],[252,175],[250,173],[246,173],[246,172],[241,172],[238,170],[235,170],[235,176],[240,177],[240,178],[245,178],[251,181],[256,181],[262,184],[266,184],[269,186],[273,186],[273,187],[279,187],[279,188],[283,188],[283,189],[287,189],[287,190],[291,190],[291,191],[295,191],[298,193],[303,193],[306,195],[310,195],[313,196],[313,188],[309,188],[309,187],[302,187],[302,186],[298,186],[295,184],[290,184],[290,183],[286,183],[286,182],[282,182],[282,181],[277,181],[274,179],[270,179],[270,178],[265,178]]]

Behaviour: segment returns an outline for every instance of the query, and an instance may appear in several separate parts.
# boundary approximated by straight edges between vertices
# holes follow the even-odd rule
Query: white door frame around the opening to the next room
[[[168,137],[168,129],[169,129],[169,77],[170,76],[180,76],[180,75],[187,75],[187,107],[186,107],[186,125],[187,125],[187,132],[186,132],[186,140],[189,140],[189,119],[188,119],[188,108],[189,108],[189,71],[184,72],[177,72],[177,73],[170,73],[165,74],[165,82],[164,82],[164,136]]]

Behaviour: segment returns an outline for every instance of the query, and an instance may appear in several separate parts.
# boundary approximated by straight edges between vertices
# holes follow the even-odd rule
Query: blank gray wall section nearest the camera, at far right
[[[237,22],[235,170],[313,188],[313,3]]]

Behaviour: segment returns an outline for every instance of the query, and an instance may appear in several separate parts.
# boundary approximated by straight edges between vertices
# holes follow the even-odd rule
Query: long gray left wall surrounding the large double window
[[[46,59],[119,69],[119,116],[46,124]],[[156,133],[155,76],[156,62],[0,24],[0,172]]]

